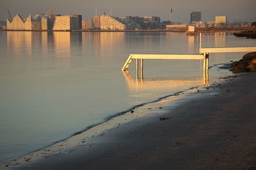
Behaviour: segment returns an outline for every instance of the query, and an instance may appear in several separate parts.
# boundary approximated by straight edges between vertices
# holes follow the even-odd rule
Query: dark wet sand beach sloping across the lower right
[[[136,118],[70,152],[12,168],[256,169],[256,74],[223,80],[172,106],[148,108],[164,113]]]

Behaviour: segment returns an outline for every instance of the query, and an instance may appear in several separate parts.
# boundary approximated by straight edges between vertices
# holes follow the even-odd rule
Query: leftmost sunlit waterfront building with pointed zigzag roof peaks
[[[24,30],[25,23],[19,14],[15,15],[13,20],[6,19],[6,26],[8,30]]]

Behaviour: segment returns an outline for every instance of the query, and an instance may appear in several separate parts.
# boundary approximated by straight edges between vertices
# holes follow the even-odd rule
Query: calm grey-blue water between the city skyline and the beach
[[[230,34],[202,46],[253,46]],[[130,53],[198,53],[172,32],[0,32],[0,163],[68,138],[136,104],[202,85],[200,60],[145,61],[143,83],[121,68]],[[210,66],[242,54],[210,55]],[[210,80],[230,74],[210,70]]]

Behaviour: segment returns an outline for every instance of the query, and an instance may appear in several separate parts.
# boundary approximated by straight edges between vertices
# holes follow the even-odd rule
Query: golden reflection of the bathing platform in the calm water
[[[133,79],[129,71],[123,71],[125,80],[131,92],[138,90],[150,90],[150,91],[168,91],[179,87],[193,87],[195,85],[202,84],[202,78],[195,79],[147,79],[138,80]],[[205,80],[204,80],[205,83]]]

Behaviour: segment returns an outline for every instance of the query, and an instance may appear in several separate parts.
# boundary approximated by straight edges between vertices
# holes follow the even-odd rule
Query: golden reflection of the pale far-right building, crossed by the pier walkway
[[[226,32],[215,32],[215,47],[226,46]],[[218,63],[225,61],[226,53],[215,53],[215,60]]]

